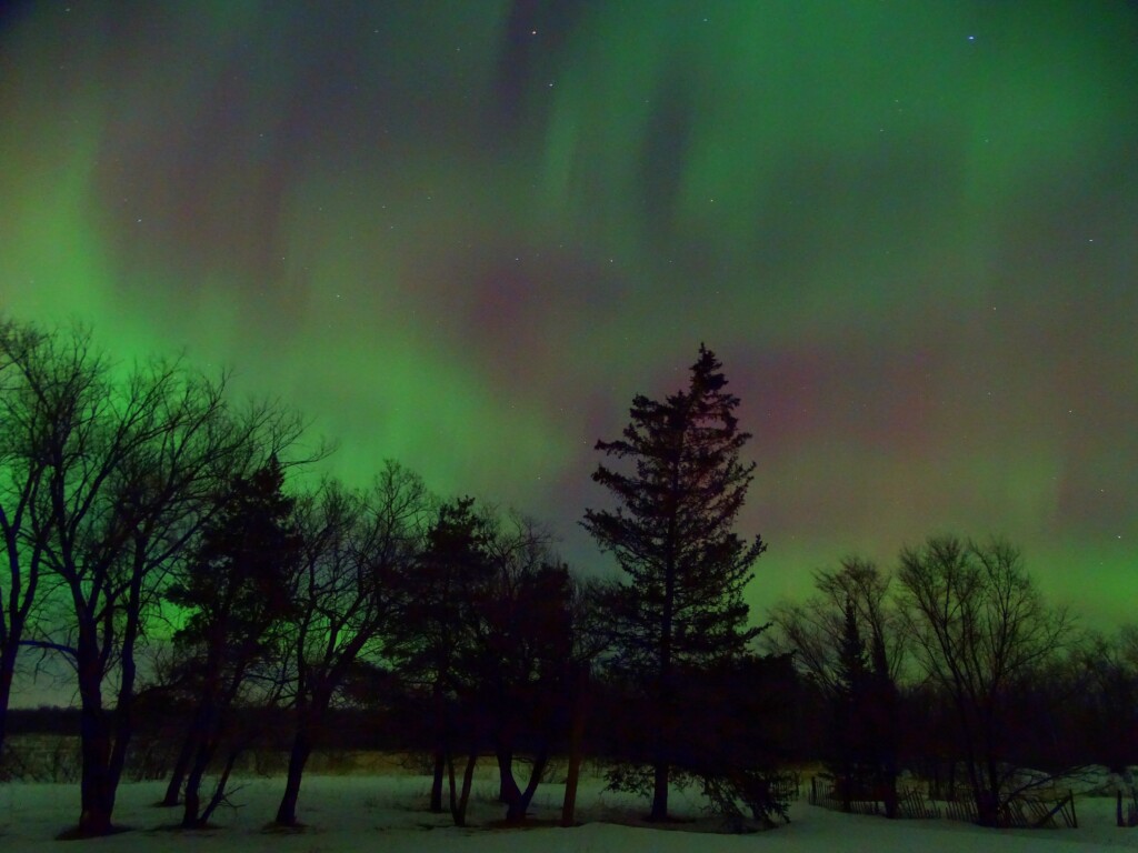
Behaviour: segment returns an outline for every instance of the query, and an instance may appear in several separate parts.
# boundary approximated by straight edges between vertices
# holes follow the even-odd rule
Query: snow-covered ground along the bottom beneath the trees
[[[180,812],[154,805],[162,782],[123,785],[117,820],[131,831],[108,838],[75,842],[81,850],[191,853],[209,851],[273,851],[273,853],[399,853],[417,851],[522,851],[534,853],[1092,853],[1099,850],[1138,850],[1138,829],[1113,825],[1113,801],[1082,797],[1078,801],[1079,829],[988,830],[949,820],[887,821],[882,818],[840,814],[799,802],[791,809],[791,823],[753,835],[724,835],[715,820],[701,817],[698,803],[683,794],[674,796],[674,811],[694,818],[668,829],[638,821],[644,802],[602,790],[597,780],[583,784],[578,819],[572,829],[541,826],[501,829],[492,823],[502,817],[494,802],[495,786],[480,772],[465,829],[452,826],[450,815],[426,810],[429,779],[421,776],[319,776],[306,777],[298,831],[270,828],[280,796],[279,778],[239,780],[233,794],[239,808],[216,815],[217,829],[172,829]],[[543,785],[533,815],[555,821],[560,815],[562,786]],[[79,792],[74,785],[11,782],[0,785],[0,851],[61,850],[55,836],[74,826]],[[69,850],[69,845],[65,845]]]

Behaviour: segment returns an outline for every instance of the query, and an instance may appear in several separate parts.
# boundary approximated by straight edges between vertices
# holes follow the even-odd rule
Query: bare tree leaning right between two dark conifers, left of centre
[[[332,697],[357,659],[379,657],[402,618],[399,579],[419,557],[429,504],[422,480],[394,462],[366,492],[325,482],[298,502],[303,546],[287,637],[294,732],[280,825],[296,823],[300,779]]]

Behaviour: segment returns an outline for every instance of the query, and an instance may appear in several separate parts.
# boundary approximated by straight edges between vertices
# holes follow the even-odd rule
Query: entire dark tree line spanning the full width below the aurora
[[[596,445],[610,504],[583,521],[619,574],[585,581],[533,520],[439,499],[397,463],[362,489],[302,480],[325,450],[287,408],[234,401],[223,374],[119,365],[82,330],[7,322],[0,767],[20,654],[74,674],[80,835],[113,830],[155,707],[176,722],[164,802],[185,827],[272,735],[289,756],[275,819],[296,823],[308,760],[348,712],[431,755],[427,806],[457,825],[483,756],[508,820],[564,754],[571,823],[588,754],[652,820],[696,785],[739,827],[785,818],[775,782],[793,761],[823,759],[847,808],[872,797],[890,817],[902,769],[947,775],[998,825],[1048,772],[1138,760],[1133,636],[1077,637],[1000,540],[933,537],[893,572],[819,572],[760,651],[772,635],[743,596],[766,545],[734,530],[754,471],[737,405],[702,347],[685,388],[634,398]]]

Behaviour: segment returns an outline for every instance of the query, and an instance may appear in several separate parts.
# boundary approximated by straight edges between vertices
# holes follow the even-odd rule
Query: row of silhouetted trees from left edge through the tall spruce
[[[0,720],[19,648],[72,665],[79,834],[113,829],[140,701],[180,710],[164,801],[181,804],[187,827],[225,801],[257,739],[249,707],[290,720],[277,821],[294,823],[306,762],[344,702],[422,709],[429,805],[442,810],[447,793],[457,823],[483,754],[519,820],[553,751],[568,750],[571,821],[604,694],[646,706],[645,747],[608,752],[622,762],[615,784],[649,768],[654,818],[667,815],[674,773],[727,811],[777,811],[766,746],[712,756],[716,732],[742,731],[764,704],[740,684],[766,670],[742,599],[765,546],[732,530],[753,470],[739,459],[749,437],[709,350],[686,389],[637,397],[625,439],[599,444],[635,462],[634,473],[599,467],[622,505],[585,520],[625,570],[617,583],[578,580],[533,521],[438,500],[395,463],[368,489],[297,488],[290,471],[321,455],[300,449],[300,420],[234,403],[224,375],[180,361],[123,366],[85,331],[7,323],[0,382]],[[159,661],[145,678],[143,653]],[[710,695],[714,706],[693,701]]]

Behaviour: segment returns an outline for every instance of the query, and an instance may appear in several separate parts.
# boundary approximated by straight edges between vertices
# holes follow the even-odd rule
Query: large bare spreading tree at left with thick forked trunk
[[[215,511],[217,483],[287,448],[300,426],[273,405],[234,409],[224,376],[179,361],[119,371],[83,331],[44,333],[9,370],[42,464],[24,536],[41,549],[41,582],[47,571],[58,590],[34,645],[75,669],[77,833],[102,835],[132,734],[146,616]],[[104,704],[112,672],[114,714]]]

